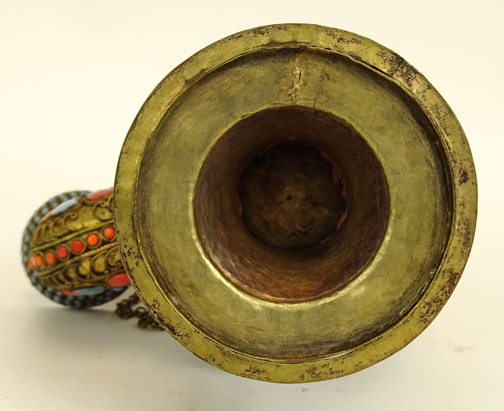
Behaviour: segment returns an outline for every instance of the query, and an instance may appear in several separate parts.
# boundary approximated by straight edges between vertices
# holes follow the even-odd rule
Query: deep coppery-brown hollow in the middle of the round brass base
[[[288,143],[275,146],[283,141]],[[302,166],[298,165],[299,169],[308,168],[303,171],[303,177],[311,174],[310,181],[306,187],[301,184],[296,188],[300,176],[295,172],[284,177],[288,179],[286,184],[264,181],[258,191],[271,190],[276,198],[257,219],[264,221],[269,215],[270,221],[265,221],[265,225],[276,230],[277,241],[283,239],[284,242],[293,239],[299,242],[298,235],[291,235],[292,228],[294,234],[299,233],[302,239],[311,242],[309,230],[317,230],[318,224],[326,225],[326,230],[341,225],[309,247],[289,251],[256,241],[257,236],[250,235],[254,231],[246,227],[242,216],[236,212],[235,199],[239,194],[237,177],[256,151],[270,145],[278,148],[294,142],[309,144],[307,147],[319,151],[319,156],[329,160],[329,163],[323,160],[326,167],[331,164],[331,174],[335,173],[329,184],[336,190],[341,189],[347,201],[341,217],[337,215],[338,201],[326,205],[336,213],[332,223],[327,224],[325,214],[328,209],[323,206],[321,198],[315,198],[317,195],[313,191],[320,182],[317,179],[321,176],[320,170],[316,172],[313,164],[307,161],[306,153],[302,159],[291,153],[290,161],[303,161]],[[335,165],[338,165],[337,170]],[[272,166],[263,164],[254,170],[255,175],[259,177],[268,173]],[[215,173],[216,169],[221,173]],[[338,176],[340,173],[341,177]],[[344,187],[340,187],[340,181]],[[324,185],[320,189],[327,191],[328,187]],[[285,200],[289,209],[280,209],[280,216],[272,221],[271,211],[277,209],[278,197],[288,195],[292,197],[290,201]],[[299,197],[304,202],[298,203]],[[255,199],[259,198],[258,192]],[[294,207],[290,205],[292,202]],[[306,208],[306,205],[315,207]],[[243,207],[246,213],[246,202]],[[228,129],[206,156],[194,195],[198,237],[206,255],[219,271],[248,294],[285,302],[320,299],[359,275],[384,239],[389,211],[390,193],[384,170],[362,136],[334,115],[299,105],[262,110]],[[293,227],[287,232],[279,230],[278,222],[285,221],[282,216],[292,221]]]

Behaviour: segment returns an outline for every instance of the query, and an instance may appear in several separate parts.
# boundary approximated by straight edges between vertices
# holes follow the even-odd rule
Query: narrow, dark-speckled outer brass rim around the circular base
[[[295,363],[245,355],[197,329],[172,304],[153,275],[150,266],[153,262],[144,255],[137,226],[141,160],[151,136],[177,96],[236,56],[289,46],[342,55],[406,92],[426,114],[442,142],[453,193],[452,223],[443,259],[414,307],[391,328],[358,347]],[[125,139],[115,177],[114,202],[117,239],[124,265],[135,289],[161,325],[188,350],[225,371],[248,378],[293,383],[359,371],[397,352],[426,328],[454,291],[467,261],[476,224],[477,188],[470,149],[460,124],[443,98],[415,68],[391,50],[356,34],[316,25],[283,24],[250,29],[222,39],[187,59],[161,81],[142,106]]]

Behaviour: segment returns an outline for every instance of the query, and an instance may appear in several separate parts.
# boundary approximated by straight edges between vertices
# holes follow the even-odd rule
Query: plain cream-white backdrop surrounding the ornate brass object
[[[502,409],[502,2],[0,2],[0,409]],[[476,164],[478,227],[462,280],[408,347],[340,379],[281,385],[222,372],[165,332],[33,289],[21,233],[48,197],[112,185],[156,84],[247,28],[339,27],[412,63],[453,108]]]

